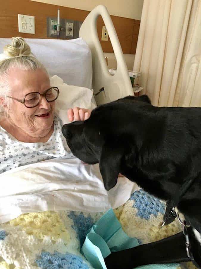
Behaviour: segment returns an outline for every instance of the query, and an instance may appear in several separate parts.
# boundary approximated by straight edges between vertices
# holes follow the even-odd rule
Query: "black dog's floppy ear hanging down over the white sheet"
[[[123,152],[123,149],[113,143],[105,143],[102,147],[99,167],[106,190],[110,190],[117,183]]]

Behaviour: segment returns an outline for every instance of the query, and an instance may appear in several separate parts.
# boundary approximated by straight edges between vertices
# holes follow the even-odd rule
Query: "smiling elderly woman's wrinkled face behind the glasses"
[[[51,88],[49,77],[42,69],[21,70],[11,69],[9,72],[9,96],[23,100],[31,92],[43,94]],[[8,98],[8,97],[7,97]],[[27,108],[24,104],[11,99],[7,114],[12,122],[32,137],[44,137],[53,125],[55,101],[48,103],[42,97],[38,106]]]

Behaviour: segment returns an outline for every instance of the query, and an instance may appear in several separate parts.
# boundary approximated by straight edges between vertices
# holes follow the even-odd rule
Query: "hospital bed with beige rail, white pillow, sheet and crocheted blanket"
[[[113,76],[97,35],[99,15],[117,59]],[[95,106],[88,89],[93,89],[97,104],[133,95],[121,46],[104,6],[99,5],[87,16],[78,39],[27,39],[27,42],[47,68],[51,83],[60,84],[63,93],[59,101],[64,114],[70,106]],[[1,38],[0,51],[9,43],[10,39]],[[85,103],[80,97],[82,100],[85,97]],[[126,178],[119,179],[106,192],[98,164],[84,165],[78,159],[55,158],[4,172],[0,181],[0,268],[105,268],[95,245],[92,244],[92,259],[88,260],[80,247],[87,230],[110,207],[136,244],[180,231],[177,223],[159,230],[165,204]],[[96,254],[102,261],[98,266],[93,263]]]

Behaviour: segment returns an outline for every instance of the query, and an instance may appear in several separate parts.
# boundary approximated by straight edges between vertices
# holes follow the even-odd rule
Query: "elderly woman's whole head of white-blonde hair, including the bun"
[[[0,97],[4,98],[4,104],[9,105],[12,101],[6,98],[10,93],[8,73],[12,68],[21,70],[43,69],[47,74],[45,67],[31,54],[31,49],[22,37],[13,37],[11,45],[4,47],[5,59],[0,61]],[[0,112],[3,111],[3,105]]]

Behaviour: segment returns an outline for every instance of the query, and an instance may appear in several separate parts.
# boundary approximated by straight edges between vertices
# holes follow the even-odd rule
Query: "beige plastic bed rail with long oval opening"
[[[111,75],[105,61],[97,33],[97,18],[101,15],[107,28],[110,41],[117,60],[115,75]],[[80,28],[82,37],[91,49],[93,65],[93,89],[97,105],[108,103],[127,95],[134,95],[116,30],[104,5],[95,7],[86,17]],[[104,91],[98,93],[102,88]]]

